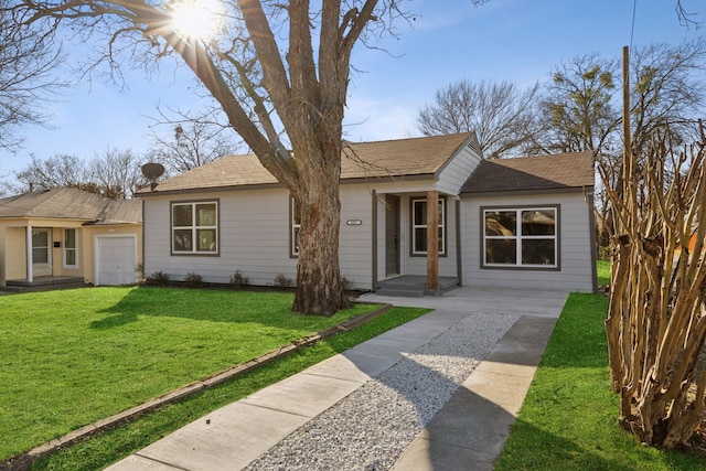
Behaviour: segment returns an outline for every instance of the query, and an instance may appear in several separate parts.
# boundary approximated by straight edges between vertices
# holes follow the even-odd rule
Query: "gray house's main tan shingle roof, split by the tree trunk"
[[[432,175],[471,138],[470,132],[377,142],[346,142],[341,180]],[[226,156],[167,179],[150,193],[277,183],[254,154]]]

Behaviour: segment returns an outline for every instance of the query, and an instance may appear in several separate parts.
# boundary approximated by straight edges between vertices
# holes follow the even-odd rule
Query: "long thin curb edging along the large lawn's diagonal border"
[[[82,440],[85,440],[94,435],[97,435],[101,431],[115,428],[119,425],[126,424],[143,414],[149,411],[159,409],[168,404],[175,403],[180,399],[189,397],[195,393],[208,389],[213,386],[216,386],[221,383],[224,383],[228,379],[232,379],[238,375],[248,373],[253,370],[256,370],[260,366],[267,365],[275,360],[287,356],[291,353],[295,353],[306,346],[313,345],[317,342],[325,340],[330,336],[335,335],[340,332],[345,332],[351,329],[354,329],[359,325],[362,325],[373,319],[388,312],[393,304],[388,303],[379,303],[379,302],[359,302],[361,304],[382,304],[379,309],[368,312],[367,314],[359,315],[353,319],[349,319],[340,324],[333,325],[323,331],[317,332],[314,334],[308,335],[303,339],[291,342],[288,345],[281,346],[279,349],[267,352],[263,355],[259,355],[253,360],[248,360],[245,363],[240,363],[236,366],[233,366],[228,370],[225,370],[221,373],[216,373],[212,376],[208,376],[204,379],[194,382],[190,385],[181,387],[176,390],[168,393],[163,396],[159,396],[154,399],[151,399],[147,403],[140,404],[138,406],[126,409],[121,413],[107,417],[105,419],[97,420],[87,426],[81,427],[76,430],[73,430],[62,437],[50,440],[45,443],[42,443],[30,451],[18,454],[15,457],[9,458],[7,460],[0,461],[0,470],[8,471],[23,471],[28,470],[30,465],[46,456],[50,456],[62,448],[68,447],[71,445],[77,443]]]

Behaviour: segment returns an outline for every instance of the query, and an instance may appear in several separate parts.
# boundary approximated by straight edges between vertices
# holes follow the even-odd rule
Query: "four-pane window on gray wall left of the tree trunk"
[[[218,253],[218,203],[172,203],[172,253]]]

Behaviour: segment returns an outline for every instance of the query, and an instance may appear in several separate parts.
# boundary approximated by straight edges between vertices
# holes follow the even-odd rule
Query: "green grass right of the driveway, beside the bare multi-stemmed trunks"
[[[641,446],[618,425],[603,320],[607,299],[571,295],[496,470],[695,470],[703,458]]]

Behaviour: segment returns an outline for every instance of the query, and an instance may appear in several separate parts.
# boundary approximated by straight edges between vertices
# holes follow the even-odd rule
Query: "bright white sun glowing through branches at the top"
[[[223,19],[218,0],[178,0],[172,3],[174,30],[186,39],[210,41]]]

